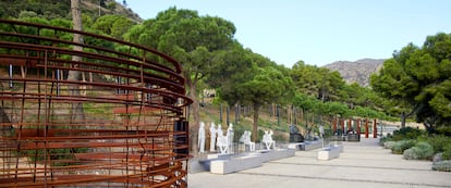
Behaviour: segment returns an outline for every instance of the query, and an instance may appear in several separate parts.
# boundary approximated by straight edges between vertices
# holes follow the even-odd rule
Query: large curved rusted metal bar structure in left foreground
[[[170,57],[0,20],[0,187],[186,187],[192,100]]]

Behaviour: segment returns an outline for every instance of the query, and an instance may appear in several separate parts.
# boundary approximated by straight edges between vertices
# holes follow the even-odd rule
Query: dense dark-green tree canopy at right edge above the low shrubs
[[[427,129],[451,123],[451,35],[428,36],[423,47],[412,43],[371,75],[375,91],[406,109]]]

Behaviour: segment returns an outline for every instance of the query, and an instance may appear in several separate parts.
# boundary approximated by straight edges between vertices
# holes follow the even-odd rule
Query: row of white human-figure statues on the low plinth
[[[218,124],[216,127],[215,123],[211,122],[210,125],[210,152],[216,151],[217,146],[221,154],[232,153],[233,152],[233,124],[230,123],[229,127],[227,128],[226,135],[222,131],[221,124]],[[255,151],[255,142],[251,140],[251,130],[244,130],[243,135],[240,137],[240,142],[244,143],[244,146],[249,147],[249,151]],[[265,135],[263,136],[261,142],[265,143],[267,150],[270,148],[276,148],[276,141],[272,139],[272,130],[265,130]],[[205,152],[205,123],[200,122],[199,130],[198,130],[198,139],[197,139],[197,147],[200,153]]]

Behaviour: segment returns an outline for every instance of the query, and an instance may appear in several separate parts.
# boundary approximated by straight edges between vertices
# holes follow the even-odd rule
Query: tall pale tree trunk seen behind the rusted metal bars
[[[83,30],[82,25],[82,10],[80,8],[81,0],[71,0],[71,11],[72,11],[72,23],[74,25],[74,30]],[[83,43],[83,36],[80,34],[74,34],[74,42],[76,43]],[[82,46],[74,46],[75,51],[83,51]],[[78,55],[72,55],[73,62],[82,61],[82,57]],[[78,67],[77,64],[73,63],[72,67]],[[69,82],[78,82],[80,80],[81,73],[78,71],[69,71],[68,80]],[[81,95],[78,85],[70,84],[69,85],[69,92],[71,96],[78,97]],[[72,104],[72,114],[71,114],[71,122],[75,121],[82,121],[85,120],[85,114],[83,111],[83,103],[81,102],[73,102]]]

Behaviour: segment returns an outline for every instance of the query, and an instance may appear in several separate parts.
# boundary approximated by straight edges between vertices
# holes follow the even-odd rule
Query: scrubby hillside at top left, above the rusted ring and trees
[[[0,1],[0,17],[19,17],[21,13],[35,15],[38,17],[52,18],[71,18],[71,1],[56,0],[2,0]],[[99,15],[114,14],[124,15],[130,20],[141,23],[143,20],[132,11],[132,9],[114,0],[83,0],[82,13],[93,20]]]

